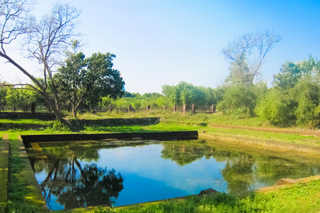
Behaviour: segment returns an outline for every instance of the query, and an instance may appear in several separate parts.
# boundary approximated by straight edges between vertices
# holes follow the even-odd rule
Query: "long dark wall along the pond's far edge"
[[[198,136],[197,131],[168,131],[168,132],[150,132],[150,133],[100,133],[100,134],[56,134],[56,135],[24,135],[21,136],[24,144],[31,142],[46,141],[87,141],[101,140],[109,138],[189,138]]]

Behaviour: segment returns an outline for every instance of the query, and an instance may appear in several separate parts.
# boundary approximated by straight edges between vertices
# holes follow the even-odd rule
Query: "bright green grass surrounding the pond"
[[[41,207],[33,202],[26,202],[28,195],[24,176],[21,171],[24,168],[19,160],[19,145],[17,137],[23,134],[51,134],[51,133],[114,133],[114,132],[150,132],[150,131],[188,131],[197,130],[201,136],[214,136],[224,140],[237,140],[241,138],[252,141],[277,141],[290,144],[309,145],[314,148],[320,146],[320,138],[316,136],[317,129],[301,129],[291,127],[289,130],[296,133],[278,133],[265,131],[251,131],[237,129],[234,126],[252,126],[279,129],[259,119],[245,118],[234,119],[223,114],[182,114],[172,112],[150,111],[148,113],[130,114],[81,114],[78,119],[108,119],[115,117],[150,117],[160,116],[160,124],[150,126],[68,126],[53,121],[39,121],[32,119],[0,120],[0,136],[9,133],[11,143],[11,182],[9,183],[10,200],[8,202],[11,212],[43,212]],[[215,128],[208,124],[227,124],[233,127]],[[8,127],[9,126],[9,127]],[[13,126],[13,127],[12,127]],[[301,131],[310,131],[311,135],[299,134]],[[314,136],[312,133],[315,133]],[[1,143],[1,142],[0,142]],[[132,207],[100,209],[96,212],[317,212],[320,209],[320,182],[313,181],[298,184],[286,189],[269,192],[267,194],[256,193],[249,196],[234,197],[220,194],[205,197],[192,196],[186,200],[171,200],[156,202]],[[73,212],[76,212],[74,210]],[[81,212],[82,210],[78,210]]]

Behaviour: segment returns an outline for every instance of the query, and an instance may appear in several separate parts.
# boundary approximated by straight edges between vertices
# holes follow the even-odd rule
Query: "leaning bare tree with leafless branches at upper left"
[[[0,56],[36,84],[36,86],[33,84],[19,85],[28,85],[34,91],[42,94],[56,114],[56,119],[62,121],[58,89],[53,81],[53,72],[56,65],[63,61],[62,56],[66,53],[66,46],[72,45],[73,38],[79,35],[74,31],[80,12],[68,4],[58,3],[53,6],[51,14],[43,16],[39,22],[32,17],[26,18],[28,13],[27,0],[0,0]],[[29,53],[29,58],[37,60],[43,67],[44,84],[7,55],[5,46],[19,35],[26,35],[23,49]],[[48,92],[48,82],[52,85],[53,97]]]

